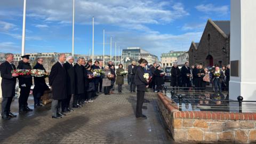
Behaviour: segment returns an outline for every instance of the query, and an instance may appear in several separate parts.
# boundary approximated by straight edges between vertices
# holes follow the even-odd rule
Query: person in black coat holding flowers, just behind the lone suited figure
[[[161,66],[157,66],[155,70],[155,84],[157,92],[162,91],[164,84],[164,71],[161,70]]]

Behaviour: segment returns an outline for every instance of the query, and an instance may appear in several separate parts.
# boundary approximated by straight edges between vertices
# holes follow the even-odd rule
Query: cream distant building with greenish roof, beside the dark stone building
[[[170,51],[169,53],[161,54],[161,63],[163,67],[171,67],[174,62],[178,61],[178,56],[186,53],[186,51]]]

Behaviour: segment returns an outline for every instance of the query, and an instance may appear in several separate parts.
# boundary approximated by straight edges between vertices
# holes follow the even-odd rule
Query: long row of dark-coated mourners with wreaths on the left
[[[74,65],[74,58],[72,56],[66,58],[65,54],[60,54],[58,62],[51,68],[50,75],[36,77],[13,73],[13,71],[17,69],[32,69],[29,63],[30,55],[23,55],[17,68],[12,63],[13,56],[12,53],[7,53],[5,55],[6,61],[0,65],[3,95],[1,115],[3,119],[17,117],[17,115],[11,113],[10,110],[11,102],[15,96],[17,78],[20,88],[19,113],[33,111],[33,109],[28,107],[28,97],[34,77],[34,107],[43,106],[41,97],[44,95],[45,91],[50,91],[51,89],[52,118],[62,118],[70,111],[73,111],[73,108],[80,108],[87,102],[93,102],[93,99],[97,97],[100,92],[105,93],[105,95],[113,94],[115,83],[118,85],[118,92],[122,93],[122,85],[124,84],[124,75],[121,74],[121,72],[124,71],[122,64],[115,70],[115,66],[111,61],[109,61],[107,66],[103,67],[103,63],[97,60],[92,64],[91,60],[85,62],[83,58],[78,58]],[[42,58],[38,58],[33,69],[43,70],[46,73],[43,62],[44,60]],[[93,70],[95,69],[101,69],[103,73],[94,76]],[[111,74],[111,78],[108,77],[109,74]],[[46,84],[46,77],[49,78],[49,86]],[[70,106],[72,97],[73,103]]]

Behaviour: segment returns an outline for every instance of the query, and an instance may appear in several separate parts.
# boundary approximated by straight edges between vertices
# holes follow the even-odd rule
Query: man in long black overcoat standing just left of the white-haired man
[[[60,113],[61,101],[67,98],[67,74],[63,66],[66,60],[65,54],[59,55],[59,61],[51,69],[49,84],[52,86],[52,118],[62,118]]]

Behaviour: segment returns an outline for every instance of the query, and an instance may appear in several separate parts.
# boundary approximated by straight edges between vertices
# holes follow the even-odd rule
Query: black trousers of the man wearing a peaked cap
[[[20,87],[20,97],[19,97],[19,108],[25,108],[28,106],[28,97],[30,93],[31,85]]]

